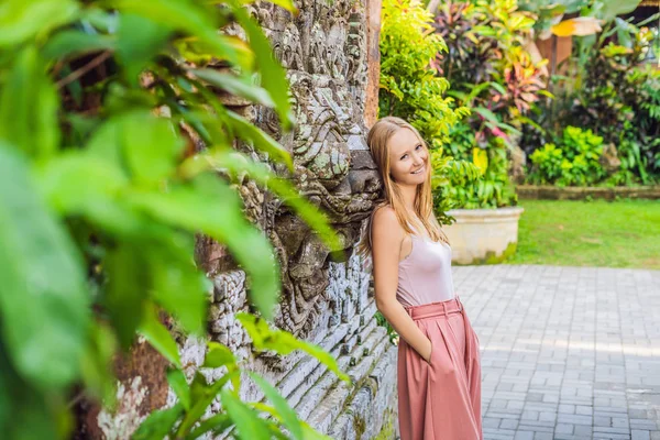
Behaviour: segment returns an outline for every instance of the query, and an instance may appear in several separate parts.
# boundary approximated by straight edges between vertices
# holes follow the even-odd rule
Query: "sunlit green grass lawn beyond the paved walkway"
[[[520,200],[506,264],[660,270],[660,200]]]

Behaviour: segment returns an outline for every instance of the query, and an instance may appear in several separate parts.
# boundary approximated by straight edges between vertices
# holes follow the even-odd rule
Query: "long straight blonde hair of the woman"
[[[399,224],[408,234],[414,234],[410,224],[418,224],[418,221],[413,217],[413,213],[406,208],[404,202],[404,196],[402,195],[400,188],[396,182],[393,180],[389,174],[389,148],[388,142],[392,136],[399,130],[407,129],[410,130],[419,142],[428,152],[428,146],[421,135],[415,129],[415,127],[410,125],[408,122],[404,121],[400,118],[396,117],[386,117],[380,119],[369,131],[369,135],[366,138],[366,143],[371,150],[372,156],[376,166],[378,167],[378,172],[381,174],[381,182],[383,183],[383,199],[376,204],[374,207],[374,212],[384,206],[391,206],[394,209],[396,218],[398,219]],[[430,157],[429,157],[429,166],[427,167],[427,178],[424,184],[417,186],[417,194],[415,196],[414,209],[417,218],[421,222],[421,226],[426,229],[428,235],[433,241],[443,241],[449,244],[449,240],[444,232],[442,232],[442,228],[436,216],[433,213],[433,196],[431,194],[431,173],[432,167],[430,166]],[[369,222],[366,224],[365,234],[359,245],[359,252],[363,255],[367,255],[372,251],[372,242],[371,242],[371,229],[373,222],[373,215],[370,217]]]

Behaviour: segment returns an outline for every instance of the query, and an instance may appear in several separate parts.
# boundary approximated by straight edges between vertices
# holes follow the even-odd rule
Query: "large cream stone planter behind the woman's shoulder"
[[[452,262],[463,264],[496,264],[516,252],[518,219],[524,209],[452,209],[447,213],[457,219],[444,226],[452,249]]]

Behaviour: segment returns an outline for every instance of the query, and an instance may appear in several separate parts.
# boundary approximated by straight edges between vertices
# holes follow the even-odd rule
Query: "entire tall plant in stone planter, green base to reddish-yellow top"
[[[433,28],[448,51],[433,65],[447,75],[449,92],[472,114],[450,132],[448,148],[455,160],[479,169],[476,177],[451,172],[436,202],[452,208],[496,208],[516,204],[508,178],[507,148],[514,147],[526,114],[544,92],[542,64],[525,50],[536,16],[520,11],[517,0],[441,2]]]

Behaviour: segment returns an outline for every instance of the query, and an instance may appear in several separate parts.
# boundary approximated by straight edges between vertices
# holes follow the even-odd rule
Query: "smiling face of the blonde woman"
[[[399,185],[420,185],[427,178],[429,152],[408,129],[398,130],[387,142],[389,175]]]

